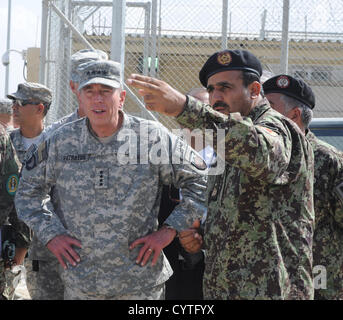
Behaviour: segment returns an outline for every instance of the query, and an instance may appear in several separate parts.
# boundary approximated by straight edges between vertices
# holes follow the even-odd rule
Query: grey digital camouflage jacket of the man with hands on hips
[[[171,276],[167,259],[161,254],[154,267],[140,267],[140,247],[130,251],[129,245],[157,230],[163,184],[183,193],[165,223],[181,230],[202,217],[207,169],[194,157],[193,149],[156,122],[124,114],[122,128],[101,143],[88,119],[80,119],[28,157],[16,195],[18,214],[44,244],[66,233],[82,242],[76,249],[81,262],[62,272],[67,286],[110,296],[153,287]],[[62,218],[42,205],[52,186]]]

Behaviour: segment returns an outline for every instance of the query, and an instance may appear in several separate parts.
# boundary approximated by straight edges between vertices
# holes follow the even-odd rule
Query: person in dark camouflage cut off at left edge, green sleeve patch
[[[10,223],[15,231],[16,253],[14,263],[17,265],[23,263],[27,248],[30,244],[30,230],[18,219],[14,207],[14,195],[18,186],[18,172],[20,167],[21,165],[15,154],[10,137],[6,133],[5,127],[0,124],[0,228]],[[3,249],[3,246],[0,247]],[[0,250],[1,253],[2,249]],[[4,260],[2,259],[2,255],[0,255],[0,300],[11,298],[13,293],[11,285],[5,288],[5,275]]]

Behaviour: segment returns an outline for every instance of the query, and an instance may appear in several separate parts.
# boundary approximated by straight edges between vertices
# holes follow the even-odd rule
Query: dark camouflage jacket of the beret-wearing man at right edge
[[[326,269],[326,279],[319,279],[320,288],[315,287],[315,299],[343,299],[343,153],[311,131],[306,138],[314,152],[313,265]],[[316,276],[323,275],[314,272]]]

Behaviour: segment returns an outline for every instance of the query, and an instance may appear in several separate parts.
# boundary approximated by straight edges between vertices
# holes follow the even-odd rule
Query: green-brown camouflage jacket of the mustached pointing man
[[[208,179],[205,299],[313,299],[313,150],[301,131],[266,99],[242,117],[188,97],[177,120],[213,129],[225,158]]]

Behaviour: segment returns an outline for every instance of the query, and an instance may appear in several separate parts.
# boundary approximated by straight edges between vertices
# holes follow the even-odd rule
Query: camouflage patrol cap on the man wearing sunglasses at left
[[[52,92],[46,86],[40,83],[24,82],[18,85],[17,92],[7,95],[12,100],[51,103]]]

